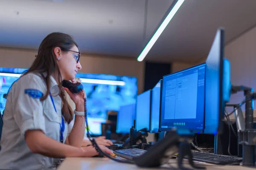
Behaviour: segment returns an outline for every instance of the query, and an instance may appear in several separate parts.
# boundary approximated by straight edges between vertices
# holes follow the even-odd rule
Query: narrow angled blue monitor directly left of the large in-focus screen
[[[160,114],[160,97],[163,79],[152,88],[151,99],[151,117],[150,117],[150,133],[157,133],[159,131],[159,114]]]

